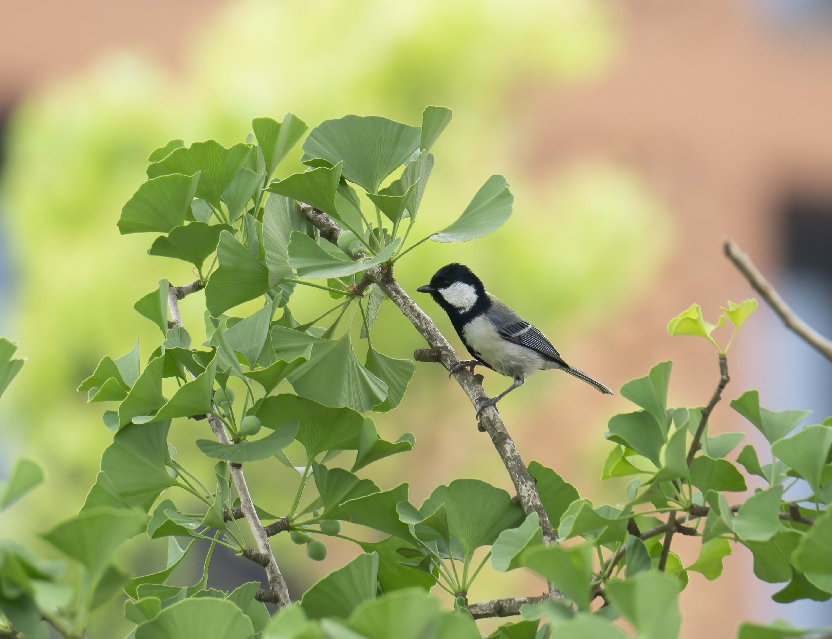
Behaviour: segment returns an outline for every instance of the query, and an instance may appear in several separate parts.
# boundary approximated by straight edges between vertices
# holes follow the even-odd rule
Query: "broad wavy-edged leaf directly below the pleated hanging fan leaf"
[[[266,428],[274,429],[300,419],[295,438],[310,460],[326,450],[357,450],[364,424],[364,418],[352,409],[334,409],[290,394],[267,397],[254,414]]]

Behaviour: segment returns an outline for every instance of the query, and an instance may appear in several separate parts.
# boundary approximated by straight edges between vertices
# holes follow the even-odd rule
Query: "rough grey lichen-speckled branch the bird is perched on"
[[[329,215],[311,206],[301,206],[301,210],[304,211],[307,219],[319,228],[322,237],[334,244],[338,243],[341,229]],[[445,336],[436,328],[436,324],[433,324],[433,320],[418,307],[414,300],[410,299],[410,296],[399,285],[399,282],[395,280],[392,268],[374,266],[372,269],[364,272],[364,278],[361,280],[361,283],[364,284],[367,280],[378,285],[384,291],[384,294],[393,301],[394,305],[399,307],[399,310],[410,320],[415,329],[427,340],[431,349],[436,354],[436,361],[443,364],[448,370],[453,367],[453,364],[460,361],[458,354],[448,342],[448,339],[445,339]],[[483,389],[483,384],[480,384],[478,379],[468,369],[456,370],[453,373],[453,378],[462,386],[471,404],[475,408],[478,408],[478,399],[487,397],[485,389]],[[526,513],[531,513],[532,511],[537,513],[544,540],[547,543],[554,542],[556,536],[552,530],[552,523],[549,521],[546,508],[543,508],[540,495],[537,493],[535,480],[529,474],[526,464],[523,463],[517,446],[514,445],[511,435],[508,434],[508,430],[505,424],[503,424],[503,419],[500,418],[497,409],[493,406],[484,409],[480,419],[480,425],[488,432],[494,448],[497,448],[500,458],[503,459],[508,474],[514,483],[514,488],[517,490],[523,510]]]

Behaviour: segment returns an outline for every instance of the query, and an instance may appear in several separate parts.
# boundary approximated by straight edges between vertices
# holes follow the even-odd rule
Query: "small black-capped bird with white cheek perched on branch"
[[[478,418],[484,409],[497,404],[538,370],[564,370],[604,394],[614,394],[604,384],[563,361],[546,335],[488,293],[468,266],[443,266],[430,284],[417,290],[429,293],[445,310],[459,339],[475,358],[454,364],[451,373],[461,368],[470,368],[473,372],[475,366],[482,364],[514,379],[501,394],[480,401]]]

